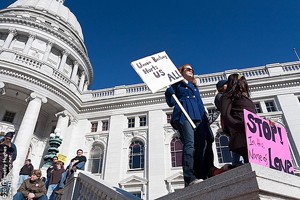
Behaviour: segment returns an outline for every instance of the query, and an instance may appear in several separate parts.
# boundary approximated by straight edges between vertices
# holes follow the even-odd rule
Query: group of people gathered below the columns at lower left
[[[0,143],[0,181],[6,182],[11,180],[2,180],[12,171],[12,163],[16,159],[16,146],[11,143],[14,133],[7,133]],[[1,152],[2,150],[2,152]],[[84,170],[86,157],[83,150],[78,149],[76,156],[71,159],[69,165],[64,168],[64,163],[58,160],[57,156],[52,158],[52,163],[47,169],[46,177],[42,177],[40,169],[34,169],[30,159],[25,160],[24,166],[19,173],[17,193],[14,194],[13,200],[55,200],[64,193],[66,180],[72,173]],[[6,183],[5,187],[1,186],[1,196],[8,196],[11,190],[10,184]]]

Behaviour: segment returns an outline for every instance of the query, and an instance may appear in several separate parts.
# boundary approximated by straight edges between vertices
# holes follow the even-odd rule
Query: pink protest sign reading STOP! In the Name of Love
[[[294,174],[285,128],[245,109],[244,121],[249,162]]]

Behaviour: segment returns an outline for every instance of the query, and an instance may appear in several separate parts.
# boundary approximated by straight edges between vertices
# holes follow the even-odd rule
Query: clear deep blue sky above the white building
[[[14,2],[0,0],[0,8]],[[296,61],[299,0],[66,0],[94,69],[90,89],[142,83],[130,62],[166,51],[196,74]]]

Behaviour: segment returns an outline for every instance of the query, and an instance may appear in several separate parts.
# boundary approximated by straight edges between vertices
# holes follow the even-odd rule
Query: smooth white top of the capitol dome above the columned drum
[[[62,21],[70,24],[71,27],[78,33],[83,40],[82,29],[77,21],[75,15],[69,10],[69,8],[63,5],[62,0],[18,0],[11,4],[8,8],[34,8],[40,11],[46,11],[47,13],[59,17]]]

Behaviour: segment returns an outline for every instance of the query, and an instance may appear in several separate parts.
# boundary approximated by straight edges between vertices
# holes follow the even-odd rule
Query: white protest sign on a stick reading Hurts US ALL
[[[183,79],[164,51],[133,61],[131,66],[147,84],[152,93]]]

